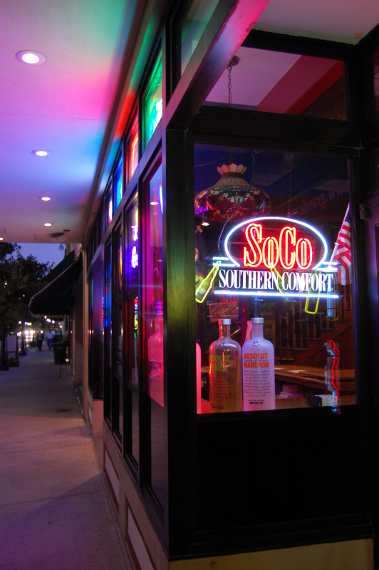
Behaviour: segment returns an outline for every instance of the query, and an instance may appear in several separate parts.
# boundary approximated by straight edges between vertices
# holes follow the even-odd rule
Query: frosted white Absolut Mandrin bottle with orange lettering
[[[274,345],[263,336],[264,319],[251,318],[252,338],[242,348],[244,412],[275,410]]]

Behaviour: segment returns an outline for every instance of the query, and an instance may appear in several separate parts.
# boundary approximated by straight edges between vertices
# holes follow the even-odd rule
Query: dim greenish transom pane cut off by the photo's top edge
[[[181,25],[182,73],[196,49],[219,0],[194,0]]]

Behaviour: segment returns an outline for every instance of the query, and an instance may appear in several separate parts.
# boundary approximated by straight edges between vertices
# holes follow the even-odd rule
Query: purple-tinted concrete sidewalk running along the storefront
[[[0,371],[0,569],[129,570],[70,366]]]

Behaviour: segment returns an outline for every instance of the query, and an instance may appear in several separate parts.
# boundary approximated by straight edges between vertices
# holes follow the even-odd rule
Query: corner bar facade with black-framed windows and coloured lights
[[[373,568],[379,30],[174,4],[147,3],[83,244],[84,413],[128,550]]]

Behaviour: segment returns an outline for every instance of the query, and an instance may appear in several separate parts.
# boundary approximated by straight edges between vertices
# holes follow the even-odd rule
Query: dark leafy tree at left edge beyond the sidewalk
[[[24,323],[31,297],[47,284],[45,277],[53,267],[53,264],[39,263],[32,255],[22,257],[20,250],[17,244],[0,244],[0,370],[8,370],[5,353],[7,329],[14,328],[19,320]]]

